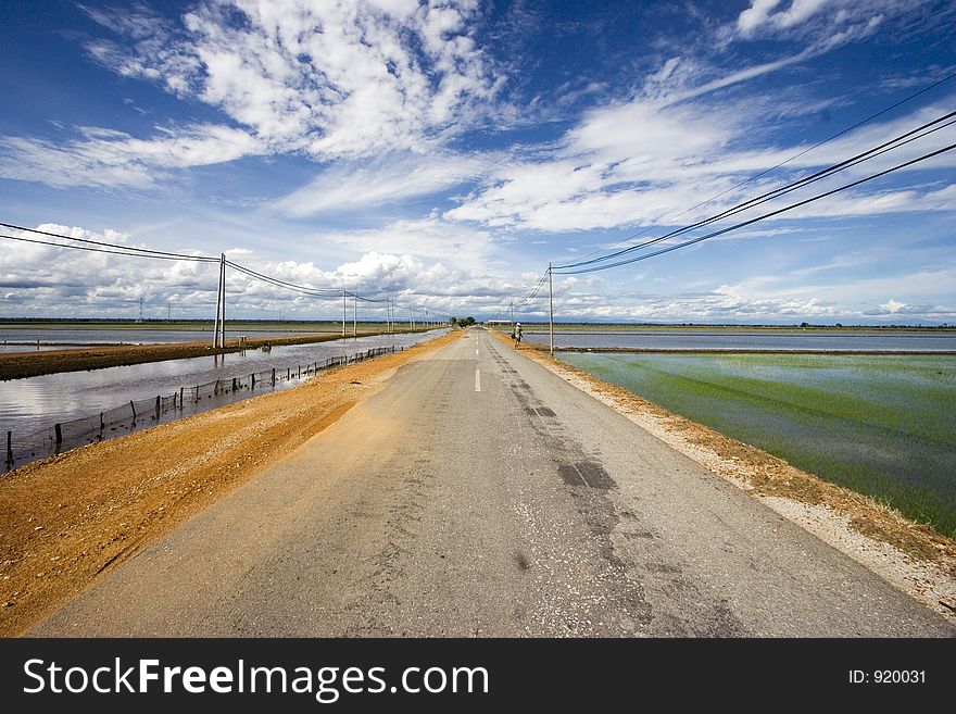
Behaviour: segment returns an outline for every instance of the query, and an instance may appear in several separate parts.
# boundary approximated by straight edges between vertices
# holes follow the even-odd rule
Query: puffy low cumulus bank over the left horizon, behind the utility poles
[[[42,224],[38,229],[85,240],[146,248],[133,236],[112,229]],[[14,237],[45,238],[5,229]],[[417,237],[417,238],[416,238]],[[231,248],[227,255],[280,280],[318,290],[328,297],[307,296],[269,285],[229,268],[227,292],[232,316],[261,317],[281,310],[304,317],[339,314],[347,289],[370,299],[398,299],[402,304],[429,306],[436,314],[475,310],[474,305],[500,302],[516,286],[489,276],[486,260],[493,247],[483,231],[442,225],[432,217],[399,222],[376,231],[328,236],[348,245],[355,258],[335,267],[310,261],[274,260],[249,248]],[[218,280],[216,264],[146,260],[110,253],[68,250],[32,242],[2,241],[0,296],[7,316],[56,314],[62,316],[138,315],[139,301],[148,317],[165,317],[167,306],[180,317],[211,318]],[[62,242],[62,241],[61,241]],[[190,246],[178,252],[200,254]],[[449,262],[448,256],[454,255]],[[362,303],[367,314],[383,303]],[[370,311],[370,312],[369,312]]]

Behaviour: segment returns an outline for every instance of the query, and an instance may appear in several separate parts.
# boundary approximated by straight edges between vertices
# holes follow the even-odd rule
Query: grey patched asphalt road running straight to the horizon
[[[32,635],[954,632],[471,329]]]

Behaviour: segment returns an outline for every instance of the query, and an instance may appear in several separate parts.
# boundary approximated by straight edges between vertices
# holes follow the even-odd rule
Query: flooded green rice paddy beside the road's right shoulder
[[[956,538],[956,356],[561,359]]]

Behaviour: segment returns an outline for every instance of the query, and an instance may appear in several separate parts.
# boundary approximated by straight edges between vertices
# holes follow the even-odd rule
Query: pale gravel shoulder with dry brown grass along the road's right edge
[[[507,336],[489,331],[511,347]],[[546,349],[525,346],[521,352],[956,623],[956,542],[873,499],[559,362]]]

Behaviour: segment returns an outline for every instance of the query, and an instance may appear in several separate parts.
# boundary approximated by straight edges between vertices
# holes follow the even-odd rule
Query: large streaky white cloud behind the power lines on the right
[[[694,93],[680,91],[682,97]],[[733,98],[722,102],[713,98],[672,102],[672,96],[658,83],[654,84],[654,99],[638,97],[586,113],[555,148],[538,156],[501,162],[479,189],[445,216],[494,227],[554,233],[652,223],[687,225],[808,175],[807,170],[828,166],[880,146],[947,109],[946,102],[940,102],[898,118],[873,122],[808,151],[807,146],[766,146],[767,138],[755,127],[765,124],[765,114],[779,112],[777,107]],[[953,138],[954,128],[945,127],[830,179],[744,212],[734,222],[914,160],[946,146]],[[780,164],[785,165],[766,178],[749,180],[754,174]],[[896,188],[886,188],[888,179],[878,179],[780,217],[952,211],[956,209],[956,189],[951,185],[898,187],[900,180],[915,171],[952,167],[956,167],[956,152],[897,173],[889,179],[889,185]]]

